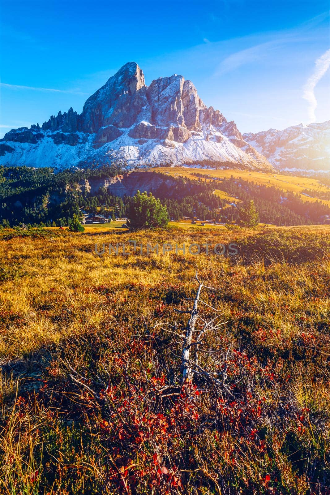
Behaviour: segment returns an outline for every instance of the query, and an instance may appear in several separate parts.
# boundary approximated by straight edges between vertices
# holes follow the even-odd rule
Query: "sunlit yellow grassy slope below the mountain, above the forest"
[[[190,167],[161,167],[150,169],[152,171],[159,171],[162,173],[169,174],[173,177],[187,177],[189,179],[196,179],[191,173],[198,173],[201,175],[210,175],[214,178],[226,177],[241,177],[243,180],[248,182],[253,181],[255,184],[260,185],[270,185],[276,186],[283,191],[288,191],[291,193],[302,193],[305,189],[315,191],[316,193],[323,193],[330,191],[330,188],[322,184],[319,180],[311,179],[307,177],[291,177],[288,175],[282,175],[278,173],[267,173],[267,172],[250,172],[249,170],[238,170],[238,169],[227,169],[227,170],[207,170],[201,168],[190,168]],[[224,195],[226,193],[222,191]],[[226,196],[223,196],[224,198]],[[300,198],[304,201],[315,202],[319,198],[310,198],[304,194],[300,194]],[[320,200],[320,199],[319,199]],[[323,200],[325,204],[330,206],[330,200]]]

